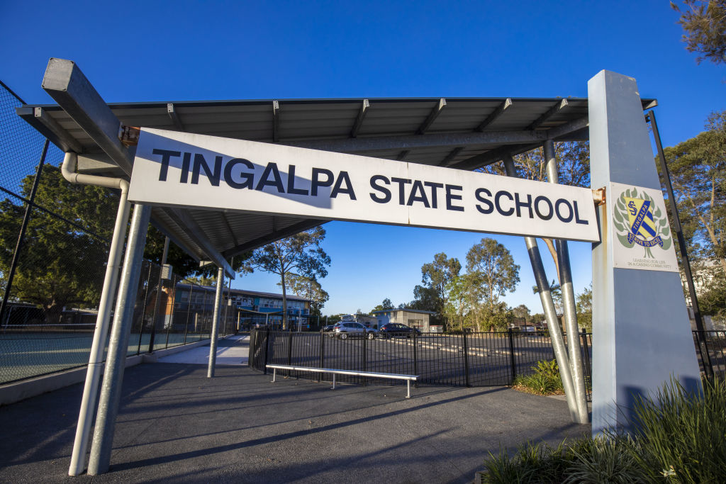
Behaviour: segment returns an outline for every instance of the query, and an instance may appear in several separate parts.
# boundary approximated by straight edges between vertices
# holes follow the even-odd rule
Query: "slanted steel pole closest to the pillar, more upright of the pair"
[[[547,179],[550,183],[560,182],[557,171],[557,157],[555,156],[555,141],[544,141],[544,161],[547,163]],[[555,239],[557,249],[557,263],[560,273],[560,290],[562,291],[563,317],[567,329],[567,348],[570,356],[570,374],[575,390],[577,414],[579,423],[590,422],[590,412],[587,410],[587,395],[585,394],[585,380],[582,370],[582,349],[580,348],[579,329],[577,327],[577,309],[575,307],[575,290],[572,284],[572,270],[570,267],[570,250],[566,240]],[[560,368],[560,373],[562,369]]]

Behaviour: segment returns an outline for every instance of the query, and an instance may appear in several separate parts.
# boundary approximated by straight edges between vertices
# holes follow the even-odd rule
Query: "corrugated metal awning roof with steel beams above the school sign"
[[[54,61],[56,65],[54,65]],[[53,70],[55,69],[55,70]],[[587,98],[268,99],[106,104],[70,61],[51,60],[44,89],[60,105],[17,114],[63,151],[78,171],[131,173],[133,152],[113,124],[287,144],[409,163],[474,170],[539,147],[588,139]],[[656,105],[643,99],[643,109]],[[130,161],[129,161],[130,160]],[[152,220],[197,260],[219,262],[317,226],[319,219],[154,208]]]

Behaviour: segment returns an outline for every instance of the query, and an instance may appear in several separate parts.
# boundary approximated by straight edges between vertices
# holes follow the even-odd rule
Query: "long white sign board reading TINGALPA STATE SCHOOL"
[[[586,188],[150,128],[139,137],[129,200],[600,240]]]

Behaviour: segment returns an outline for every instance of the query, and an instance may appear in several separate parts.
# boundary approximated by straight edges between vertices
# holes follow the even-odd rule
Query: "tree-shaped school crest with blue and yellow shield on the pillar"
[[[639,193],[635,187],[625,190],[617,199],[613,224],[620,243],[628,248],[640,245],[645,249],[645,258],[655,258],[651,247],[658,245],[664,250],[671,247],[665,214],[648,193]]]

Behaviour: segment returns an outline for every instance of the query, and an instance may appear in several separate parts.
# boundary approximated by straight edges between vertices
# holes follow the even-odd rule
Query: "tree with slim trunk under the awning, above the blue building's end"
[[[292,237],[280,239],[256,249],[246,266],[259,268],[280,276],[282,287],[282,327],[287,328],[287,277],[305,276],[311,279],[327,276],[330,256],[320,247],[325,229],[317,226]]]

